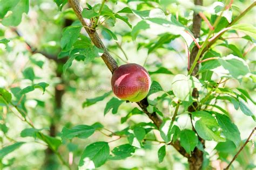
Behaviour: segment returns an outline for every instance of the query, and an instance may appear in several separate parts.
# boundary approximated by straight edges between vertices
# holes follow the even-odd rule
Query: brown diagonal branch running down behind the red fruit
[[[102,40],[100,40],[98,33],[96,30],[91,29],[91,23],[89,19],[82,17],[82,8],[79,5],[78,0],[69,0],[69,4],[72,7],[72,9],[75,11],[76,16],[84,26],[85,31],[91,38],[93,44],[98,47],[104,49],[104,53],[102,55],[102,59],[105,62],[107,68],[110,69],[111,73],[114,72],[114,70],[118,67],[117,62],[112,58],[110,53],[107,51],[106,47],[104,46]],[[156,114],[156,112],[150,113],[147,111],[147,106],[149,106],[149,103],[147,102],[147,98],[144,98],[142,101],[137,102],[140,108],[145,112],[147,116],[153,121],[153,123],[159,128],[161,123],[163,122],[162,119]],[[184,155],[184,157],[188,157],[188,154],[184,150],[183,147],[181,147],[179,141],[176,141],[176,143],[171,144],[176,150]]]

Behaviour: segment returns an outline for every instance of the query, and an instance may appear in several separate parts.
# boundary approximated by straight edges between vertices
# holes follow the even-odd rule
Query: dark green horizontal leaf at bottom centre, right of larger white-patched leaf
[[[114,155],[112,157],[110,157],[109,159],[121,160],[121,159],[125,159],[127,157],[131,157],[132,153],[135,152],[135,148],[136,147],[131,146],[130,144],[124,144],[124,145],[117,146],[113,149],[113,151],[111,151]]]

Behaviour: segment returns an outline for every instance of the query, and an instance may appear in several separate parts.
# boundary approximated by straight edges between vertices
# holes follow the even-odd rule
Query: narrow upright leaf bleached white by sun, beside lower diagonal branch
[[[159,131],[162,139],[165,143],[170,143],[171,141],[171,119],[164,119],[163,123],[160,125]]]

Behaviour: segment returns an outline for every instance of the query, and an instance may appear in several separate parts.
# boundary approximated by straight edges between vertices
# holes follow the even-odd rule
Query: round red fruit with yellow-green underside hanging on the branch
[[[149,93],[150,84],[149,73],[136,63],[118,67],[111,79],[113,93],[121,100],[130,102],[143,100]]]

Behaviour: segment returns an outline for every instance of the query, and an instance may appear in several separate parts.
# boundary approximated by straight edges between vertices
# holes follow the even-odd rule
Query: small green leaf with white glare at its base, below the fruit
[[[129,130],[129,136],[127,139],[130,145],[141,148],[143,146],[142,140],[144,139],[145,135],[145,129],[140,126],[136,126],[133,130]]]

